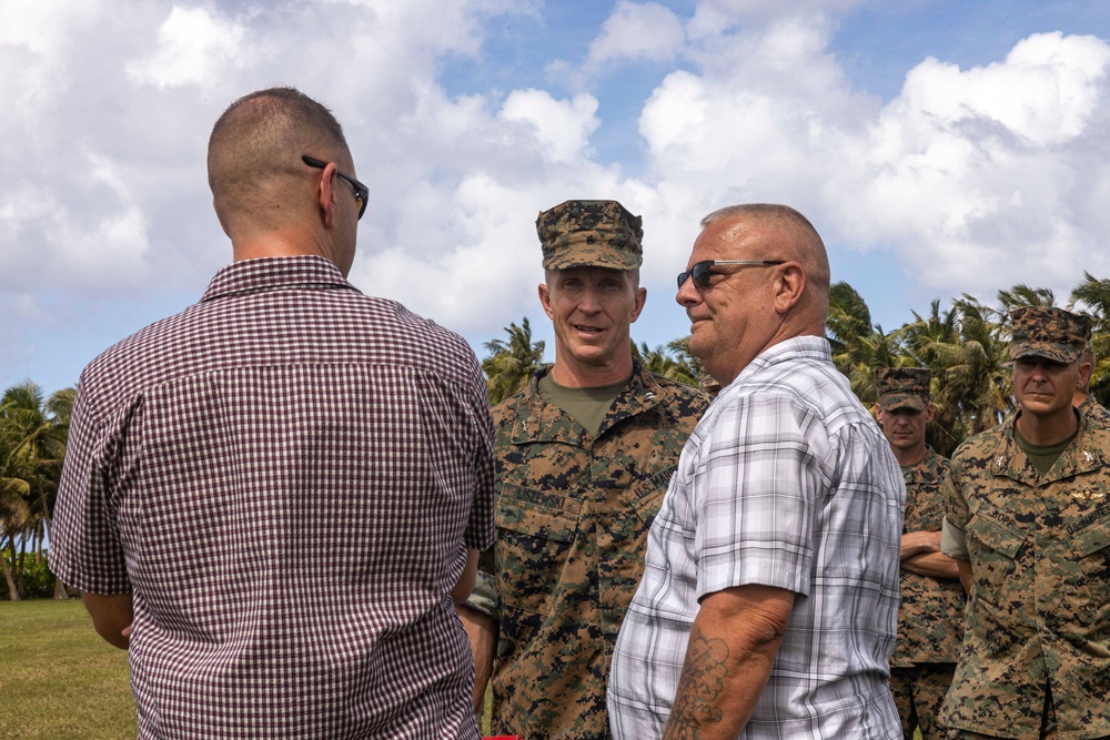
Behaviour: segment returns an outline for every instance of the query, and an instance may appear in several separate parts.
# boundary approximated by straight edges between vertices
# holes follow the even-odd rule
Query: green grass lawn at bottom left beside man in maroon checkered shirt
[[[79,599],[0,601],[0,738],[135,737],[128,653]]]

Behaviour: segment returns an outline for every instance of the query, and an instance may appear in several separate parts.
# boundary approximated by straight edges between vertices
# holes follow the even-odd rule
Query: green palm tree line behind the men
[[[934,301],[927,314],[911,312],[914,320],[891,332],[874,325],[862,296],[840,282],[830,290],[826,336],[837,368],[868,407],[876,399],[875,371],[930,368],[936,408],[927,436],[937,452],[950,455],[963,439],[999,424],[1015,409],[1007,352],[1009,312],[1019,306],[1060,306],[1093,320],[1097,362],[1091,392],[1099,403],[1110,405],[1110,278],[1097,280],[1089,273],[1062,304],[1048,288],[1015,285],[999,291],[993,306],[963,295],[941,311],[940,301]],[[484,345],[482,369],[491,404],[524,389],[544,364],[544,343],[532,338],[527,317],[509,324],[505,334]],[[655,348],[634,342],[633,354],[653,373],[694,386],[705,383],[705,371],[689,353],[689,337]],[[49,539],[73,398],[73,388],[48,396],[31,381],[8,388],[0,398],[0,598],[4,590],[11,600],[43,590],[52,590],[56,598],[67,596],[64,585],[52,584],[47,572],[43,544]]]

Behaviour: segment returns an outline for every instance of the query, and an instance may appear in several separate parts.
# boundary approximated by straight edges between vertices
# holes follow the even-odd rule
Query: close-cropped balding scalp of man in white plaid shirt
[[[719,222],[727,224],[739,241],[750,232],[760,234],[760,259],[796,261],[806,274],[806,292],[798,311],[817,322],[824,331],[829,312],[829,259],[820,234],[789,205],[747,203],[729,205],[702,219],[702,227]],[[719,223],[726,226],[725,223]]]

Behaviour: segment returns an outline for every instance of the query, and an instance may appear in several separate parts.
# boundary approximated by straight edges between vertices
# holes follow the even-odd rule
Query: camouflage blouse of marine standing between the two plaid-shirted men
[[[709,399],[638,365],[596,436],[538,391],[493,409],[501,600],[493,729],[607,738],[605,687],[647,529]]]

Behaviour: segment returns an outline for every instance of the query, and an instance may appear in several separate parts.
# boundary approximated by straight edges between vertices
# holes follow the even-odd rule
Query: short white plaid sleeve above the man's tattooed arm
[[[749,584],[807,595],[819,472],[786,396],[722,408],[694,476],[697,598]]]

